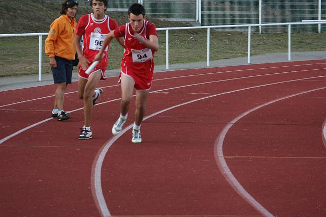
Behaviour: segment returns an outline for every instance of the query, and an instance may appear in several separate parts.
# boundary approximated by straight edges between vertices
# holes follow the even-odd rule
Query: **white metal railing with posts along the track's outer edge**
[[[210,65],[210,29],[248,27],[248,63],[251,63],[251,28],[252,26],[288,25],[288,61],[291,60],[291,25],[302,24],[326,24],[326,21],[309,22],[286,22],[286,23],[264,23],[264,24],[238,24],[238,25],[211,25],[211,26],[187,26],[156,28],[157,31],[166,31],[166,69],[169,69],[169,30],[207,29],[207,66]],[[23,33],[23,34],[0,34],[0,37],[39,36],[39,82],[42,80],[42,36],[48,33]]]

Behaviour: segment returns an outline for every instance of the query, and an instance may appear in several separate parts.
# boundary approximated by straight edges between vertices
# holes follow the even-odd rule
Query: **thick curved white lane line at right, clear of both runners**
[[[215,160],[220,168],[220,171],[222,172],[223,176],[226,178],[226,180],[229,182],[229,184],[233,187],[233,189],[244,199],[246,200],[248,203],[250,203],[258,212],[260,212],[262,215],[264,216],[274,216],[273,214],[271,214],[267,209],[265,209],[260,203],[258,203],[247,191],[246,189],[244,189],[242,187],[242,185],[238,182],[238,180],[234,177],[234,175],[232,174],[231,170],[229,169],[224,154],[223,154],[223,142],[225,139],[226,134],[228,133],[229,129],[241,118],[243,118],[244,116],[258,110],[259,108],[269,105],[271,103],[274,102],[278,102],[284,99],[288,99],[290,97],[294,97],[297,95],[301,95],[301,94],[305,94],[305,93],[310,93],[313,91],[318,91],[318,90],[322,90],[325,89],[326,87],[323,88],[317,88],[317,89],[313,89],[313,90],[309,90],[309,91],[304,91],[301,93],[296,93],[296,94],[292,94],[292,95],[288,95],[282,98],[278,98],[269,102],[266,102],[264,104],[261,104],[259,106],[256,106],[254,108],[252,108],[251,110],[248,110],[247,112],[242,113],[241,115],[237,116],[236,118],[234,118],[233,120],[231,120],[221,131],[219,137],[215,140],[215,144],[214,144],[214,156],[215,156]]]

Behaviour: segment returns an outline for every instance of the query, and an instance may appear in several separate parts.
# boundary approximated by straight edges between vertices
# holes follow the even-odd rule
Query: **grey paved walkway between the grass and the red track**
[[[319,60],[326,59],[326,51],[310,51],[310,52],[292,52],[291,61],[302,60]],[[266,55],[257,55],[251,57],[251,64],[257,63],[276,63],[288,61],[288,53],[270,53]],[[208,67],[221,67],[221,66],[234,66],[234,65],[248,65],[247,57],[240,57],[234,59],[210,61],[210,66],[207,66],[207,62],[196,62],[187,64],[173,64],[169,65],[169,69],[166,69],[165,65],[155,66],[155,72],[164,72],[178,69],[192,69],[192,68],[208,68]],[[118,76],[119,69],[107,70],[106,76],[113,77]],[[76,81],[78,77],[77,72],[73,72],[73,81]],[[41,85],[53,84],[52,74],[43,74],[42,81],[38,82],[38,75],[27,76],[12,76],[0,78],[0,91],[13,90],[25,87],[35,87]]]

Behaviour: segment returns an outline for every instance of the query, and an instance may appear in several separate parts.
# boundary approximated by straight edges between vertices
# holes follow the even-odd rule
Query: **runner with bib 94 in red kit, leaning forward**
[[[101,60],[104,47],[113,38],[123,37],[125,52],[121,62],[121,102],[120,117],[113,125],[112,133],[118,134],[127,120],[133,88],[136,89],[135,121],[132,127],[133,143],[141,143],[141,123],[146,111],[146,99],[152,86],[154,52],[158,50],[158,38],[154,23],[145,20],[145,9],[141,4],[133,4],[128,9],[129,23],[119,26],[109,33],[95,60]]]

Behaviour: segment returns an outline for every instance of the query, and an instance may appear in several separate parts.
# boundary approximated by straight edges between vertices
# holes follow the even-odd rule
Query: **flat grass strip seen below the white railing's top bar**
[[[155,53],[155,64],[166,64],[166,35],[158,31],[159,50]],[[251,53],[287,52],[287,33],[252,34]],[[42,73],[50,73],[49,60],[42,43]],[[291,51],[326,50],[325,33],[294,33],[291,35]],[[38,37],[1,38],[0,77],[38,73]],[[210,60],[246,57],[248,34],[241,32],[210,33]],[[206,30],[174,30],[169,32],[169,63],[203,62],[207,57]],[[123,48],[113,40],[109,51],[108,69],[120,68]]]

